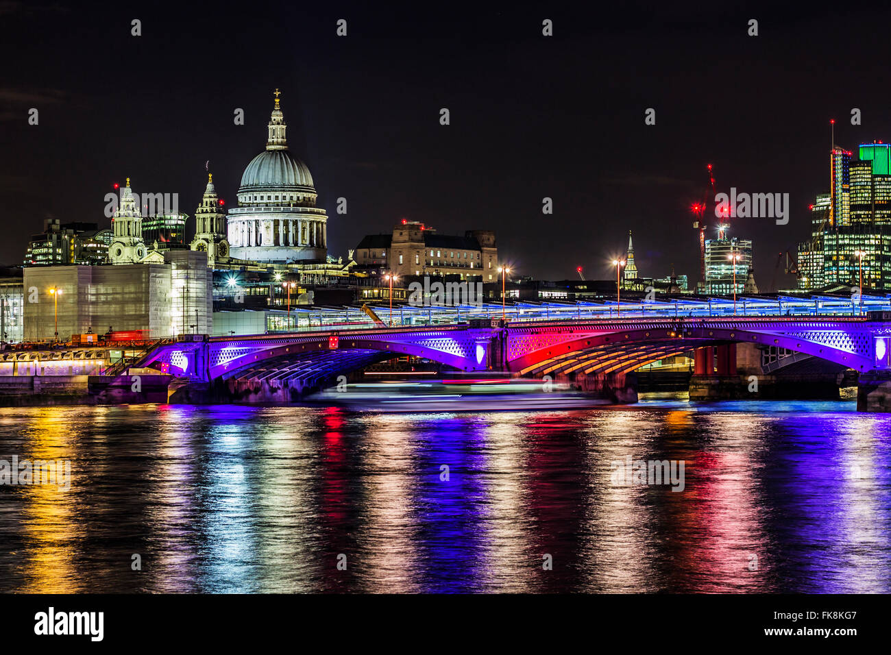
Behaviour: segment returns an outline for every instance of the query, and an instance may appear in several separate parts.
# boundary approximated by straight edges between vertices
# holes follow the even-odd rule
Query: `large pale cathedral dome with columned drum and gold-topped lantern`
[[[328,254],[328,216],[315,206],[309,168],[288,150],[279,94],[275,89],[266,150],[244,169],[238,207],[229,209],[232,257],[270,264],[323,262]]]

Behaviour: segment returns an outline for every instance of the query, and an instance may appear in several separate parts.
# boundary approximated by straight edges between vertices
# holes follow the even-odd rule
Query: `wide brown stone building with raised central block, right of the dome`
[[[495,233],[471,230],[464,236],[437,234],[417,221],[402,221],[391,234],[370,234],[354,253],[356,265],[372,274],[480,276],[483,282],[499,278]]]

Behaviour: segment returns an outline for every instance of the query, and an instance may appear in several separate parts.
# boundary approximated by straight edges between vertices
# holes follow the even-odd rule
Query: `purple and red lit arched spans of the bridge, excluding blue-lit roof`
[[[626,373],[710,345],[788,348],[863,373],[891,368],[891,322],[860,316],[723,316],[467,324],[196,337],[154,348],[139,363],[198,381],[288,382],[318,389],[394,356],[428,358],[460,371],[515,376]]]

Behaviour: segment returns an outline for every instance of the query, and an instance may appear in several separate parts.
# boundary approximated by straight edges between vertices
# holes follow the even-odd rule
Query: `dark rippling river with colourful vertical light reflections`
[[[3,592],[891,592],[891,415],[853,403],[6,408],[12,455],[70,479],[0,486]]]

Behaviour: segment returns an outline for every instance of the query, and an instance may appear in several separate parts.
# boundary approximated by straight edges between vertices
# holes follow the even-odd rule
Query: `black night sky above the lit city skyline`
[[[828,191],[830,119],[847,149],[891,140],[886,14],[459,6],[0,2],[0,262],[20,264],[46,217],[109,225],[104,196],[127,176],[135,192],[179,192],[193,230],[210,160],[233,205],[265,147],[275,87],[333,256],[407,218],[440,233],[495,230],[502,258],[544,279],[576,266],[609,278],[630,229],[642,275],[674,263],[694,283],[690,206],[711,163],[718,192],[789,193],[789,225],[732,228],[754,240],[762,291],[788,288],[777,254],[796,255],[808,205]],[[233,124],[235,108],[246,125]]]

